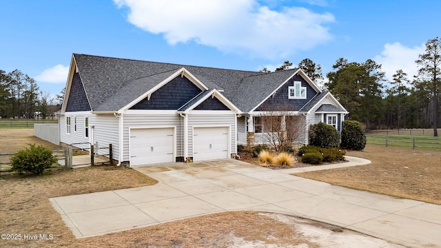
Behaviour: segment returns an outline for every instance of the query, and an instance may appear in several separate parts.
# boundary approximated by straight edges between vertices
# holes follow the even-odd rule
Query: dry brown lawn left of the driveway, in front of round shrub
[[[153,185],[156,180],[127,167],[52,169],[42,176],[2,174],[0,177],[1,234],[53,234],[53,241],[0,241],[3,245],[59,247],[70,245],[74,236],[48,198],[112,189]]]

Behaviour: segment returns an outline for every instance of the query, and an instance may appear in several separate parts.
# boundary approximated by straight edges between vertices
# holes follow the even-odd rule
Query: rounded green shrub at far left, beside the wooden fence
[[[57,158],[54,157],[50,149],[43,147],[43,145],[29,144],[29,147],[12,155],[10,161],[12,170],[18,174],[24,172],[43,174],[45,169],[57,163]]]

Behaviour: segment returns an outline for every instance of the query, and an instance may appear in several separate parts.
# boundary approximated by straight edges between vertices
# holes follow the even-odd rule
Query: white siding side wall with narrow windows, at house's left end
[[[90,115],[89,115],[90,116]],[[66,133],[66,117],[70,117],[70,134]],[[76,117],[76,131],[74,118]],[[90,148],[89,138],[85,137],[85,125],[84,114],[75,114],[75,112],[69,112],[64,116],[60,116],[60,142],[68,145],[76,144],[74,147],[81,149]],[[81,144],[78,144],[81,143]]]

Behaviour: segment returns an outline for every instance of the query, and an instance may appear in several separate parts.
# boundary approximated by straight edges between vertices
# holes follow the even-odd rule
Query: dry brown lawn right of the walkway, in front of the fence
[[[368,145],[363,152],[347,155],[372,163],[296,176],[441,205],[441,152]]]

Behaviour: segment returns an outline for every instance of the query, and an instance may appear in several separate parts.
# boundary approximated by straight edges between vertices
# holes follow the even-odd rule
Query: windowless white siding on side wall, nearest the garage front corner
[[[112,144],[114,159],[119,159],[119,118],[116,116],[89,116],[89,135],[93,128],[92,143],[98,147],[109,147]],[[108,149],[99,149],[98,154],[109,154]]]

